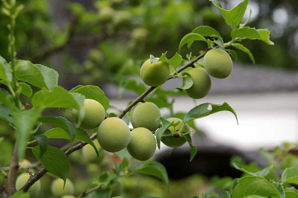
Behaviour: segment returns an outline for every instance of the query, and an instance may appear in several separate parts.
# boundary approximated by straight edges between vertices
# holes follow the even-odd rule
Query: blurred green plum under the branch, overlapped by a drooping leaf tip
[[[99,157],[97,158],[97,155],[96,155],[96,152],[95,152],[93,146],[91,146],[90,144],[87,144],[86,146],[84,146],[82,148],[82,154],[83,154],[84,160],[86,162],[101,163],[105,156],[105,152],[104,152],[103,148],[101,148],[97,139],[93,140],[93,143],[95,144],[95,146],[98,150]]]

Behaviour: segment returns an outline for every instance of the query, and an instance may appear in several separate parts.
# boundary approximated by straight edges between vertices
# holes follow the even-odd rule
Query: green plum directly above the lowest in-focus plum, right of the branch
[[[139,103],[131,111],[131,124],[134,128],[144,127],[155,131],[161,124],[160,121],[156,121],[160,116],[160,110],[154,103]]]

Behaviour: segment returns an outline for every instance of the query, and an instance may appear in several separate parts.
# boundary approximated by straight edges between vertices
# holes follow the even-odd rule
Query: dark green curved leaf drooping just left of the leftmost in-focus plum
[[[69,137],[72,141],[75,138],[75,132],[76,132],[75,127],[66,118],[63,118],[61,116],[59,116],[59,117],[43,116],[43,117],[39,118],[38,121],[40,121],[42,123],[47,123],[47,124],[51,124],[51,125],[60,127],[61,129],[63,129],[64,131],[67,132],[67,134],[69,135]]]

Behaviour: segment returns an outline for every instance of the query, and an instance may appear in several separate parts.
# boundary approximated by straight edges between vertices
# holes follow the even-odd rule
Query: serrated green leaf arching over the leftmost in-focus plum
[[[86,85],[75,89],[72,93],[80,93],[86,97],[86,99],[93,99],[103,105],[105,110],[109,107],[109,100],[105,97],[105,93],[97,86]]]

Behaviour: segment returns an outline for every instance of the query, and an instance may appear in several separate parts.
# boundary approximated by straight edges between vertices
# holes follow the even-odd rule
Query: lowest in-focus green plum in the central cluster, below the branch
[[[137,160],[145,161],[150,159],[156,150],[156,139],[153,133],[143,127],[132,130],[127,150]]]

